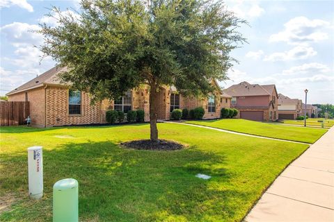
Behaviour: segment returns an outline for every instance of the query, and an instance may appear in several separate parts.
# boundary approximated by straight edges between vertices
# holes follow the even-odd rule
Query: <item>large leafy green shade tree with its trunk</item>
[[[78,15],[52,8],[57,26],[42,24],[41,46],[67,72],[60,78],[94,101],[118,99],[129,89],[150,89],[150,139],[158,139],[155,101],[163,85],[184,96],[204,96],[211,80],[225,80],[245,42],[244,20],[221,1],[84,0]]]

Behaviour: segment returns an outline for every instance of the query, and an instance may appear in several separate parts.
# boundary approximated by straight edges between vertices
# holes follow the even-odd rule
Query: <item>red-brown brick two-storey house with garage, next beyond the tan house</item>
[[[275,85],[242,82],[223,92],[232,96],[231,107],[239,110],[237,117],[255,121],[276,121],[278,94]]]

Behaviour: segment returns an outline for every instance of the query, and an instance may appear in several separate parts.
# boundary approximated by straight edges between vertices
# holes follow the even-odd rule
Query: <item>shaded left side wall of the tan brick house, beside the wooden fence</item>
[[[29,101],[31,125],[45,126],[45,89],[39,87],[8,96],[8,101]]]

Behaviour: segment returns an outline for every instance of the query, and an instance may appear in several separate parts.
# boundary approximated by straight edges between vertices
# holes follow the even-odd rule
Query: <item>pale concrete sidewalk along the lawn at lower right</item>
[[[334,127],[276,178],[245,221],[334,221]]]

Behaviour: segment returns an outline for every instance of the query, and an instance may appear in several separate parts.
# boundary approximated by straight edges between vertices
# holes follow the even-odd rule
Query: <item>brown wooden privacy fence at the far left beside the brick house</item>
[[[29,116],[29,102],[0,101],[0,126],[22,125]]]

